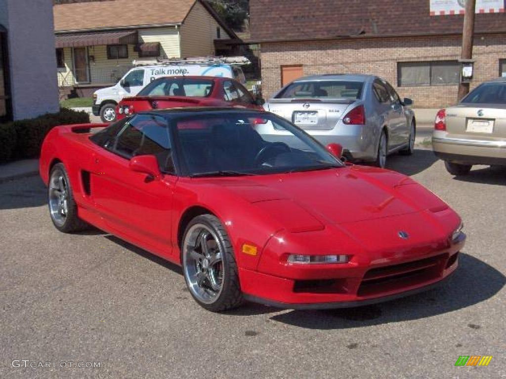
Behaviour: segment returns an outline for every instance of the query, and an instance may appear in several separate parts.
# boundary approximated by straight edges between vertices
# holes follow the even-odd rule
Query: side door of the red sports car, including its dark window
[[[130,169],[130,159],[139,155],[157,158],[163,172],[161,179]],[[136,245],[171,256],[172,202],[177,176],[173,175],[166,121],[154,115],[135,116],[105,143],[95,157],[95,164],[93,197],[108,228]]]

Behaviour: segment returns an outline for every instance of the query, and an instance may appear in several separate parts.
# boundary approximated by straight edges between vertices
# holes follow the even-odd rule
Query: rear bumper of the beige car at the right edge
[[[434,154],[442,160],[460,164],[506,165],[506,141],[450,138],[434,135]]]

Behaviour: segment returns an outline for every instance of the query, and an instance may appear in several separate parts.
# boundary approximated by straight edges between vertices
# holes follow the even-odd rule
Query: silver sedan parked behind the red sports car
[[[323,145],[342,145],[348,160],[385,167],[389,154],[413,152],[416,121],[407,107],[412,103],[377,76],[317,75],[287,84],[264,108]]]

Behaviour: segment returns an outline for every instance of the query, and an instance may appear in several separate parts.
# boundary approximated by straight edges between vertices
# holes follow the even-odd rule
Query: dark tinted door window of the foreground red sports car
[[[172,143],[167,122],[154,115],[138,115],[123,126],[108,148],[117,155],[131,159],[138,155],[154,155],[160,170],[174,173]]]

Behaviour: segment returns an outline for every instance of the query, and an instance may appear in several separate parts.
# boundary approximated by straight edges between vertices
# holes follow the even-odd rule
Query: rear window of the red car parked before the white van
[[[186,96],[206,98],[213,90],[213,80],[160,78],[149,83],[137,96]]]

